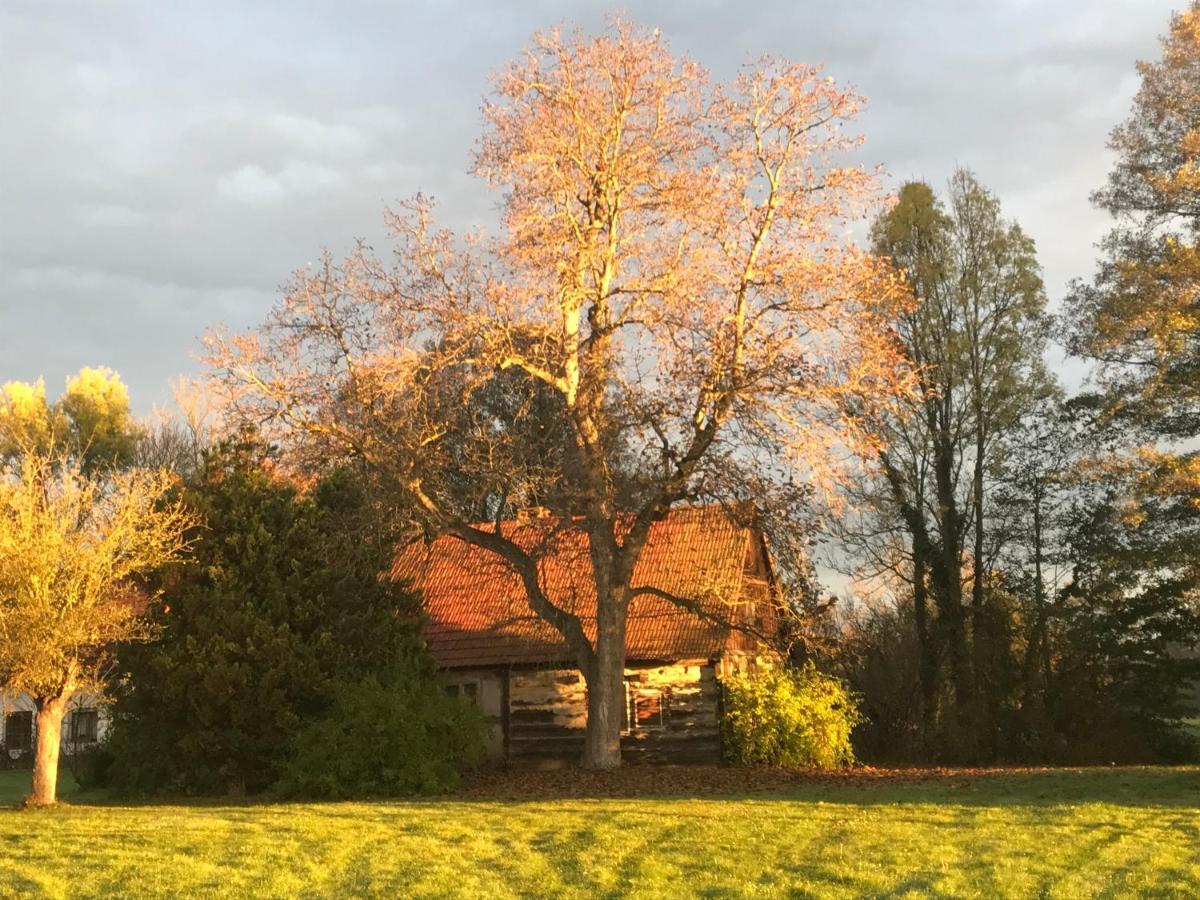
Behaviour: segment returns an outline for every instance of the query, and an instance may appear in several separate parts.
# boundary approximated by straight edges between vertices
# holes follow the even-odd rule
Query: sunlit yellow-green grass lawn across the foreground
[[[20,778],[0,773],[4,797],[23,793]],[[106,805],[76,794],[0,811],[0,860],[2,895],[1198,896],[1200,768],[727,798]]]

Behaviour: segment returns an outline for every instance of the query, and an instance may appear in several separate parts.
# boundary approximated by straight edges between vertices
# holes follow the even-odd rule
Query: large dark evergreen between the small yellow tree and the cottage
[[[380,577],[392,545],[353,478],[301,493],[246,440],[212,451],[185,499],[204,522],[193,556],[162,574],[157,640],[121,654],[116,781],[258,791],[335,680],[403,670],[437,690],[418,600]]]

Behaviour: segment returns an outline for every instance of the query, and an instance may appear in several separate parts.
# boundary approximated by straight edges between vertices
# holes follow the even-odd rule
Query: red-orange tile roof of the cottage
[[[556,520],[502,523],[504,536],[540,557],[541,584],[557,606],[580,616],[595,637],[595,587],[587,539]],[[634,570],[634,586],[685,598],[707,614],[670,600],[640,595],[629,610],[626,656],[631,660],[712,659],[725,648],[728,622],[745,600],[766,600],[764,584],[748,578],[757,533],[734,523],[719,506],[672,511],[650,528]],[[524,588],[490,551],[454,536],[410,544],[397,556],[394,577],[424,595],[426,641],[444,667],[572,662],[563,638],[529,608]],[[731,617],[731,612],[733,616]]]

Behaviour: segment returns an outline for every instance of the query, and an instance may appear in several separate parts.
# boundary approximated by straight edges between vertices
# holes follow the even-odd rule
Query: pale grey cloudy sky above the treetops
[[[870,98],[890,186],[958,164],[1034,236],[1052,301],[1090,272],[1092,210],[1134,61],[1182,0],[689,0],[0,5],[0,382],[107,365],[140,410],[206,328],[263,319],[320,248],[377,239],[418,190],[487,222],[467,174],[488,74],[536,28],[617,10],[726,77],[763,53]]]

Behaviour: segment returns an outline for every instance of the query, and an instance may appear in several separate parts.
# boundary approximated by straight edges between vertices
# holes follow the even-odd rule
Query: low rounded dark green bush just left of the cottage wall
[[[476,766],[487,725],[425,673],[338,682],[329,714],[301,727],[276,791],[347,799],[437,793]]]

